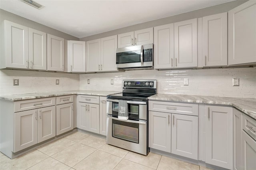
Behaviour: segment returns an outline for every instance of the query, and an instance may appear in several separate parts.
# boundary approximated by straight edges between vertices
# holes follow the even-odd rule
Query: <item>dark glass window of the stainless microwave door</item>
[[[140,63],[140,50],[116,53],[116,63]]]

